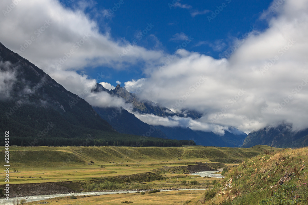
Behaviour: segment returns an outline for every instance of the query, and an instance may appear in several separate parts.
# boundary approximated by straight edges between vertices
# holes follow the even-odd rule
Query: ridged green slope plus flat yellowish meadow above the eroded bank
[[[163,166],[193,165],[196,162],[238,163],[265,149],[270,147],[10,147],[10,170],[16,170],[10,173],[10,184],[80,181],[141,174]],[[4,156],[4,147],[0,150]],[[3,164],[1,161],[0,166],[3,167]],[[4,174],[2,170],[1,177]],[[167,178],[174,175],[171,172],[164,173]]]

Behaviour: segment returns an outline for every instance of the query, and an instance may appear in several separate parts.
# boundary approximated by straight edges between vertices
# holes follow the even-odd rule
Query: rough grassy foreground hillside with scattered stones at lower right
[[[308,148],[266,151],[225,171],[225,179],[186,204],[307,204]]]

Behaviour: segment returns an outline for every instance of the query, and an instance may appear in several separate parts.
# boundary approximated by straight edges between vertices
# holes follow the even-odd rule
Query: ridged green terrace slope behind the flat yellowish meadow
[[[268,147],[270,148],[270,147]],[[59,167],[91,166],[106,164],[147,161],[195,160],[203,162],[233,163],[243,161],[263,152],[262,148],[223,148],[223,147],[11,147],[10,161],[15,167]],[[1,148],[4,156],[4,148]],[[1,162],[1,165],[3,162]]]

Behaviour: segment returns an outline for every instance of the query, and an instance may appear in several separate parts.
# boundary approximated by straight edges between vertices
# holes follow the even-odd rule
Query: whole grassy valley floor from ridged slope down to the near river
[[[267,149],[271,148],[13,146],[10,147],[10,197],[101,190],[205,189],[222,179],[189,173],[215,172]],[[183,195],[189,193],[184,191]]]

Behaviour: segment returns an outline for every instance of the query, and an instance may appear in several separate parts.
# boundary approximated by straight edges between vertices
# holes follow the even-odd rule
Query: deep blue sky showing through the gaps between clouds
[[[66,7],[76,8],[75,1],[62,0],[61,2]],[[209,2],[181,0],[176,4],[174,2],[177,1],[172,3],[170,0],[123,0],[123,4],[120,4],[119,0],[97,1],[87,7],[85,13],[99,24],[101,32],[108,27],[115,41],[125,39],[132,43],[136,39],[138,40],[136,45],[144,48],[174,53],[183,40],[171,39],[175,38],[174,35],[182,33],[193,38],[185,47],[186,50],[219,59],[224,56],[223,52],[233,45],[234,38],[241,38],[245,33],[251,32],[251,28],[259,31],[267,28],[267,22],[259,20],[259,17],[271,3],[270,0],[257,0],[253,3],[234,0]],[[112,14],[110,16],[103,16],[102,12],[109,9],[115,12],[109,12]],[[215,12],[215,10],[217,13],[219,10],[219,13],[211,19],[212,11]],[[198,12],[201,14],[197,14]],[[138,33],[151,23],[154,27],[139,40]],[[142,65],[134,65],[122,70],[99,66],[95,69],[79,71],[79,73],[86,73],[92,78],[96,78],[98,73],[103,73],[103,81],[114,86],[116,81],[123,83],[147,77],[143,73]]]

